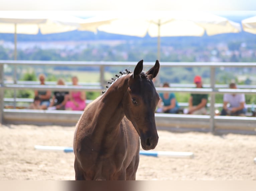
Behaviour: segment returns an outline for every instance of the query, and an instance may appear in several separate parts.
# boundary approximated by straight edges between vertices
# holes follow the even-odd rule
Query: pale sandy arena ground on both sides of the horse
[[[74,154],[34,145],[72,146],[75,127],[0,125],[0,180],[74,180]],[[256,136],[158,130],[156,151],[195,157],[140,156],[137,180],[256,180]]]

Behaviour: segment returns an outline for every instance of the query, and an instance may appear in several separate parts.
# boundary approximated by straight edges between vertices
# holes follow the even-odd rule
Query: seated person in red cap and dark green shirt
[[[194,83],[196,84],[196,88],[203,88],[202,78],[200,76],[194,78]],[[188,114],[205,115],[207,113],[207,100],[208,94],[191,94],[188,102]]]

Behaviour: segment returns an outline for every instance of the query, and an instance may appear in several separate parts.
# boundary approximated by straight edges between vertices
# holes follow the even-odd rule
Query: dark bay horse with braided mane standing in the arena
[[[74,136],[76,180],[135,180],[140,142],[145,150],[158,142],[152,79],[159,68],[156,61],[144,72],[141,60],[86,107]]]

